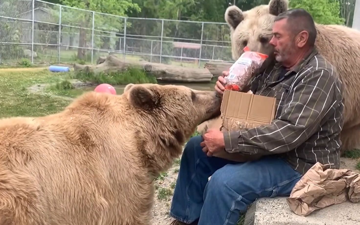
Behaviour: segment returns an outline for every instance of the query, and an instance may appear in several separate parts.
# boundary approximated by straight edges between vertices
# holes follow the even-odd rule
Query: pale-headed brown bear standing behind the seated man
[[[259,5],[244,12],[237,6],[229,6],[225,21],[230,27],[233,59],[237,60],[243,48],[248,46],[252,51],[270,56],[264,67],[274,60],[273,46],[269,44],[274,18],[287,9],[287,0],[270,0],[268,5]],[[360,144],[360,31],[341,25],[315,25],[319,53],[337,69],[343,84],[343,153]]]

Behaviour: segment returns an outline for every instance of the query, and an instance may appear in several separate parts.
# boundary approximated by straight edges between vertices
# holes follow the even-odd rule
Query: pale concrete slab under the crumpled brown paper
[[[260,198],[249,207],[244,225],[360,225],[360,203],[347,201],[304,217],[291,211],[286,197]]]

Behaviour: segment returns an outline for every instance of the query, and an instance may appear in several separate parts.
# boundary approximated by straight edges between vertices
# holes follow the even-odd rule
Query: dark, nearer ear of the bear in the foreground
[[[129,102],[136,108],[153,109],[158,107],[159,96],[143,86],[134,86],[129,91]]]

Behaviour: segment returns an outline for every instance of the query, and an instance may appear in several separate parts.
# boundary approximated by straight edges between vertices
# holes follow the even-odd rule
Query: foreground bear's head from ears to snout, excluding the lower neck
[[[220,115],[221,96],[180,85],[129,84],[124,95],[137,114],[183,144],[200,123]],[[162,134],[164,135],[164,134]]]

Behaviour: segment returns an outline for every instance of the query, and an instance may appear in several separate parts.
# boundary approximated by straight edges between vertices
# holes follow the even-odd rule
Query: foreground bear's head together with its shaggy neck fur
[[[136,121],[136,146],[153,176],[166,171],[200,123],[220,116],[221,96],[180,85],[129,84],[124,98]]]

